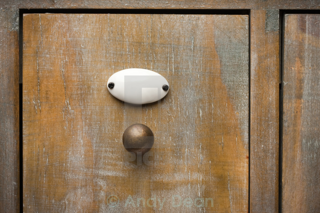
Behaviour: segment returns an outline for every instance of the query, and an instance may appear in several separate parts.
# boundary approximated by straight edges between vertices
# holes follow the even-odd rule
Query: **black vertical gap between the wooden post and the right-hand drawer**
[[[283,70],[284,70],[284,11],[279,11],[280,84],[279,84],[279,213],[282,212],[282,143],[283,143]]]

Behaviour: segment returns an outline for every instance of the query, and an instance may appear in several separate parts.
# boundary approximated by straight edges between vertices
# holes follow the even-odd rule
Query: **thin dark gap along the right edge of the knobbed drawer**
[[[249,12],[249,128],[248,128],[248,148],[249,148],[249,188],[248,188],[248,212],[250,212],[250,164],[251,164],[251,10]]]

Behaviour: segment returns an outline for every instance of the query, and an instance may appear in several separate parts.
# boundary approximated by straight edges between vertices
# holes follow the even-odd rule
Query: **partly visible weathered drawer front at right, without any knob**
[[[320,211],[319,58],[320,15],[285,15],[283,212]]]

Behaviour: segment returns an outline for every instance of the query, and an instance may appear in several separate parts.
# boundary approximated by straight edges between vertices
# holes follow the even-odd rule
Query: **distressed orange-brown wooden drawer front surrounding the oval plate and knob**
[[[25,212],[248,211],[248,16],[28,14],[23,27]],[[114,98],[109,76],[132,67],[168,95]],[[122,145],[134,123],[155,134],[145,162]]]

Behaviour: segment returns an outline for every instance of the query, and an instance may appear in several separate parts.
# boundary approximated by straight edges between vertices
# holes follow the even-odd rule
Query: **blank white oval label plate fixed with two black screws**
[[[121,101],[134,104],[158,101],[169,91],[169,83],[162,75],[139,68],[114,73],[108,79],[107,85],[111,95]]]

